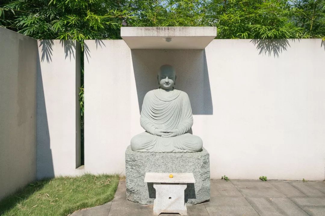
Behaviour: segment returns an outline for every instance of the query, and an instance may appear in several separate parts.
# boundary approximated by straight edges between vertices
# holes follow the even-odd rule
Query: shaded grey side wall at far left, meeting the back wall
[[[37,41],[0,27],[0,199],[36,177]]]

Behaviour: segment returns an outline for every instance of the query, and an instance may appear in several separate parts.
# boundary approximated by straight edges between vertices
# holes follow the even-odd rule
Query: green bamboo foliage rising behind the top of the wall
[[[120,39],[127,26],[216,26],[220,39],[325,39],[325,0],[3,0],[0,26],[36,39]]]

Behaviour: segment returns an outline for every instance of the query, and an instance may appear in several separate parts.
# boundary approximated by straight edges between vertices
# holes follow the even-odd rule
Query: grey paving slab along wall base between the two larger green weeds
[[[244,197],[284,197],[269,182],[261,180],[231,180]]]

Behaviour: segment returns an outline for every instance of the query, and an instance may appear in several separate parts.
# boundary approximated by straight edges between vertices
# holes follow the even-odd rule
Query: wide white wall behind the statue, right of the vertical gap
[[[212,178],[324,179],[324,45],[268,42],[277,54],[251,40],[213,40],[205,51],[131,51],[123,40],[86,41],[85,170],[124,172],[125,148],[143,131],[144,94],[168,63],[176,87],[190,97],[192,131],[210,153]]]

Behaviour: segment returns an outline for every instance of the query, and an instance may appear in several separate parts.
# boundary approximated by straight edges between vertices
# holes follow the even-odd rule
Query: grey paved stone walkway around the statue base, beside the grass
[[[211,180],[210,201],[187,206],[188,216],[325,216],[321,181]],[[125,182],[114,199],[71,216],[152,216],[152,205],[126,200]],[[161,214],[175,216],[178,214]]]

